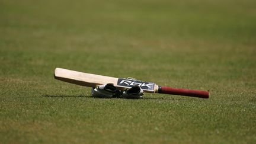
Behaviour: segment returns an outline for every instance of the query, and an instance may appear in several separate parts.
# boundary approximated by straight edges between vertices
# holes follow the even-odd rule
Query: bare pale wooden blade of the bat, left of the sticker
[[[69,82],[85,87],[96,87],[107,83],[117,84],[118,78],[110,76],[94,75],[91,73],[71,71],[68,69],[56,68],[54,72],[55,79]]]

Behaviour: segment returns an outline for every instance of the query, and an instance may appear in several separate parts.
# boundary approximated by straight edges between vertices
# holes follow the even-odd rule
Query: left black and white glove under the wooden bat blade
[[[120,96],[121,92],[116,87],[114,87],[113,84],[104,84],[96,88],[92,88],[92,97],[113,98]]]

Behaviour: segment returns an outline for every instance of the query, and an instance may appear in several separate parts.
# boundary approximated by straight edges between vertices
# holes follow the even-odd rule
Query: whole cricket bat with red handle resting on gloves
[[[156,85],[153,82],[137,81],[137,80],[125,79],[125,78],[113,78],[110,76],[95,75],[91,73],[71,71],[71,70],[62,69],[62,68],[55,69],[54,77],[55,79],[59,79],[60,81],[69,82],[76,85],[82,85],[85,87],[92,87],[92,88],[95,88],[98,85],[103,85],[107,83],[114,84],[114,86],[120,90],[131,88],[133,87],[133,85],[139,85],[144,92],[209,98],[209,92],[207,91],[171,88],[171,87],[164,87],[164,86],[161,87],[159,85]]]

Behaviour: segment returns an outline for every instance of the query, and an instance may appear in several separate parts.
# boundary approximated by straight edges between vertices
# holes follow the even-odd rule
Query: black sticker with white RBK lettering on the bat
[[[155,83],[119,78],[118,81],[117,81],[117,85],[123,86],[123,87],[133,87],[133,85],[139,85],[139,87],[142,88],[142,89],[153,91]]]

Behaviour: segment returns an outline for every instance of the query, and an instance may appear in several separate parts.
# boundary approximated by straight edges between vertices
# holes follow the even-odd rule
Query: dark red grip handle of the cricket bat
[[[199,97],[199,98],[209,98],[209,92],[207,92],[207,91],[181,89],[181,88],[159,87],[158,93],[173,94],[173,95],[185,95],[185,96]]]

